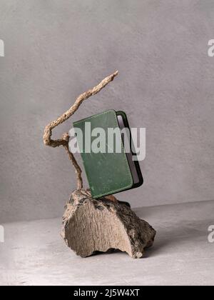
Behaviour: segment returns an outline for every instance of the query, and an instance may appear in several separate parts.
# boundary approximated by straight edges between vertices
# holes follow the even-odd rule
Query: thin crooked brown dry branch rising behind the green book
[[[77,179],[77,189],[83,188],[83,179],[81,177],[81,168],[78,165],[75,157],[69,151],[68,149],[68,133],[63,134],[61,139],[51,139],[52,130],[58,126],[59,124],[62,124],[64,121],[68,120],[70,116],[72,116],[75,111],[77,111],[78,107],[82,104],[82,102],[86,99],[88,99],[90,96],[93,96],[97,94],[103,87],[105,87],[109,82],[113,81],[114,77],[118,74],[118,71],[114,72],[113,74],[107,76],[105,79],[103,79],[97,86],[94,86],[93,89],[89,89],[88,91],[85,91],[83,94],[78,96],[74,104],[68,109],[68,111],[64,112],[61,116],[58,117],[55,121],[51,121],[46,128],[44,129],[44,144],[51,147],[57,147],[57,146],[63,146],[66,149],[66,152],[68,153],[68,157],[71,160],[75,171],[76,171],[76,179]]]

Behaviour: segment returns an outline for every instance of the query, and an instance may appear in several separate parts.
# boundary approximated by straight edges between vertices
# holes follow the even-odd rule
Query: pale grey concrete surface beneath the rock
[[[0,285],[213,285],[214,201],[135,209],[156,230],[143,259],[126,253],[86,259],[61,236],[61,219],[5,224],[0,244]]]

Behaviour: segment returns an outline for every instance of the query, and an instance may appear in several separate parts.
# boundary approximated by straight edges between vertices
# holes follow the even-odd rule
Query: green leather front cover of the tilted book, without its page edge
[[[124,191],[126,189],[131,189],[133,186],[133,178],[131,175],[131,170],[128,165],[128,160],[126,153],[124,151],[123,142],[121,143],[121,152],[116,153],[116,149],[111,149],[113,153],[110,153],[110,145],[108,137],[108,129],[118,128],[118,120],[116,116],[116,111],[108,110],[104,111],[101,114],[96,114],[90,116],[86,119],[76,121],[73,123],[73,127],[76,129],[81,129],[83,132],[83,141],[85,139],[90,139],[90,143],[93,144],[93,141],[97,136],[89,136],[88,131],[86,132],[86,123],[90,123],[91,132],[93,129],[101,128],[106,133],[106,152],[105,153],[87,153],[86,143],[83,142],[83,151],[81,151],[81,157],[83,159],[83,166],[86,171],[86,176],[88,179],[88,184],[91,189],[91,195],[93,198],[99,198],[102,196],[107,196],[109,194],[115,194],[118,191]],[[76,131],[78,133],[78,131]],[[80,136],[76,134],[78,146],[80,146]],[[111,144],[112,146],[112,144]]]

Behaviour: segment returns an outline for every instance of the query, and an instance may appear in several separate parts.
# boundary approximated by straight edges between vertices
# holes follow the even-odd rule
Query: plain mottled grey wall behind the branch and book
[[[0,0],[0,223],[61,216],[76,187],[44,126],[116,69],[76,121],[122,109],[146,127],[144,185],[132,206],[214,199],[213,0]],[[193,204],[194,205],[194,204]]]

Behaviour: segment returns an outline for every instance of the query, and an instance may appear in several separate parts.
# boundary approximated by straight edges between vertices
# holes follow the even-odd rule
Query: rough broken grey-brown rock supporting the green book
[[[126,251],[141,258],[153,245],[156,231],[126,204],[106,198],[92,199],[89,191],[73,191],[63,215],[62,236],[77,255],[96,251]]]

